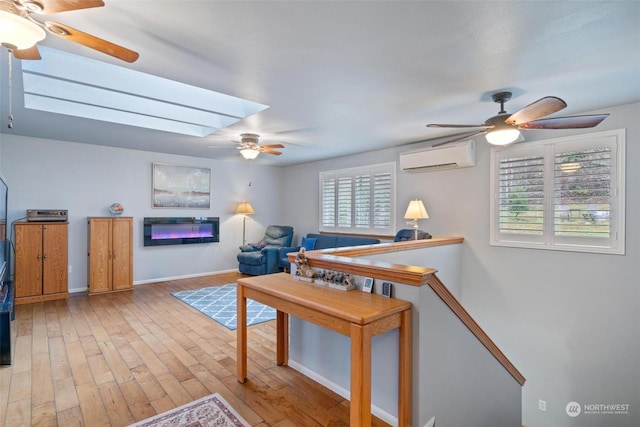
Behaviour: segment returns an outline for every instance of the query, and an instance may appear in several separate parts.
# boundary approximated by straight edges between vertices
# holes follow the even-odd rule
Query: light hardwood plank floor
[[[348,401],[275,365],[275,321],[249,328],[240,384],[235,331],[170,295],[238,277],[18,306],[13,364],[0,367],[0,426],[127,426],[216,392],[254,426],[347,426]]]

